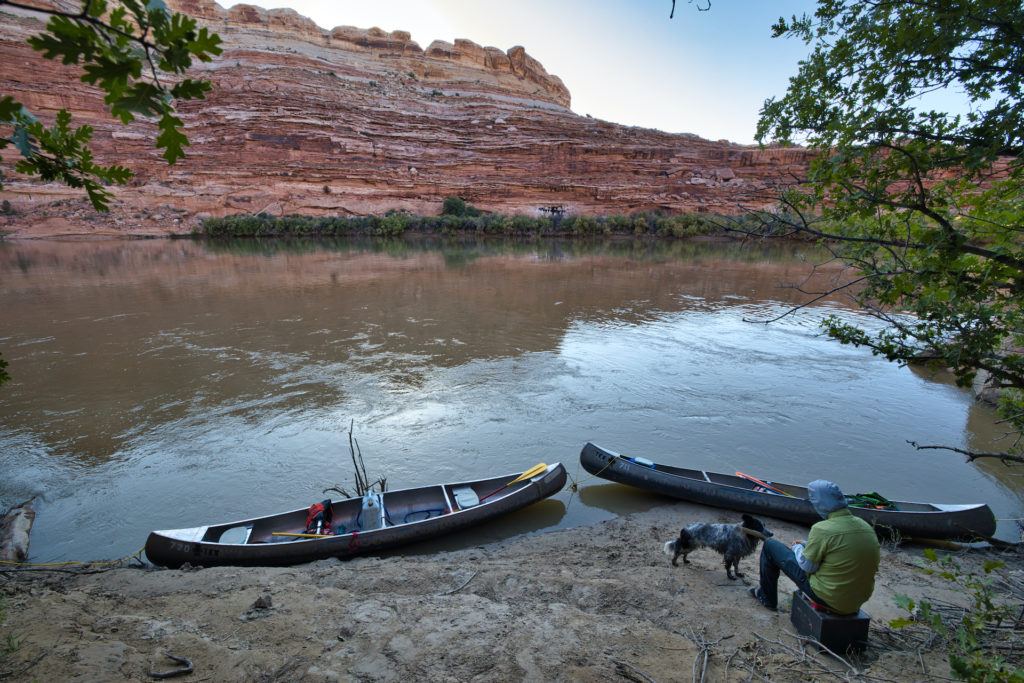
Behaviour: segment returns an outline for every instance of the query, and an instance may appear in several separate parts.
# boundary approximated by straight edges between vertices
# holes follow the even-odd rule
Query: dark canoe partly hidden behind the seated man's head
[[[807,500],[807,488],[760,478],[786,495],[740,476],[660,465],[587,443],[580,464],[591,474],[682,501],[749,512],[811,525],[821,517]],[[995,532],[995,515],[985,504],[944,505],[892,501],[891,509],[850,507],[850,511],[883,531],[904,538],[971,541]]]

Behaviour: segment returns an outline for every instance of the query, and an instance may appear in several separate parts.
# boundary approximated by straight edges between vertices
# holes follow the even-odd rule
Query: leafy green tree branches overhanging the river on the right
[[[763,230],[821,239],[857,269],[848,291],[885,325],[831,317],[829,335],[934,358],[965,385],[984,371],[1020,431],[1024,7],[819,0],[773,32],[811,49],[765,102],[758,139],[820,154]]]

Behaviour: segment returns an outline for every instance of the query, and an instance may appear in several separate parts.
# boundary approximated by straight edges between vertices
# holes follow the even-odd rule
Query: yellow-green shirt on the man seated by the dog
[[[842,614],[852,614],[867,602],[879,570],[879,540],[874,529],[844,508],[811,527],[804,557],[818,565],[811,589]]]

